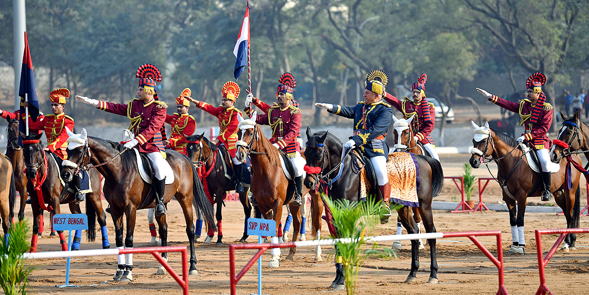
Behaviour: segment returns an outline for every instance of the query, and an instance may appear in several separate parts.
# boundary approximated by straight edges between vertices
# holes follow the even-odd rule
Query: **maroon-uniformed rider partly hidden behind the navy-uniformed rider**
[[[440,158],[436,151],[434,140],[432,140],[430,135],[435,125],[435,118],[432,118],[432,115],[435,116],[435,107],[425,97],[425,81],[427,79],[428,75],[423,73],[417,79],[417,82],[411,85],[412,99],[403,97],[399,100],[390,93],[385,93],[383,99],[402,112],[404,119],[409,119],[415,115],[411,121],[411,130],[413,131],[415,142],[421,143],[432,158],[439,161]]]

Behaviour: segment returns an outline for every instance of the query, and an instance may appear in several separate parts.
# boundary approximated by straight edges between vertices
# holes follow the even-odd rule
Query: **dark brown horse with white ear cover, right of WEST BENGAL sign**
[[[110,214],[115,226],[117,248],[133,248],[133,233],[135,229],[135,217],[137,210],[152,208],[155,206],[153,195],[148,198],[151,185],[142,180],[137,168],[137,156],[135,151],[127,150],[118,142],[102,140],[101,138],[87,135],[85,129],[82,129],[79,135],[70,135],[77,137],[78,141],[84,144],[74,147],[68,147],[68,160],[75,164],[72,167],[64,167],[63,174],[67,181],[71,180],[74,169],[80,167],[83,170],[95,167],[96,170],[104,176],[105,185],[103,188],[104,197],[110,204]],[[69,141],[69,140],[68,140]],[[164,203],[168,203],[173,197],[176,197],[184,213],[186,221],[186,234],[190,243],[190,270],[189,274],[197,274],[196,254],[194,253],[194,224],[193,224],[193,198],[196,198],[198,209],[204,213],[209,227],[216,227],[213,224],[213,210],[206,194],[204,194],[203,185],[198,180],[196,168],[190,163],[190,160],[177,151],[167,150],[166,160],[170,163],[174,172],[174,181],[166,185],[166,194]],[[90,166],[90,164],[94,166]],[[153,193],[153,190],[152,190]],[[123,244],[123,214],[127,218],[127,237]],[[167,246],[166,215],[156,216],[161,246]],[[167,260],[167,254],[161,256]],[[115,281],[132,281],[133,274],[133,254],[117,257],[117,271],[113,279]],[[157,274],[164,274],[164,268],[160,266]]]

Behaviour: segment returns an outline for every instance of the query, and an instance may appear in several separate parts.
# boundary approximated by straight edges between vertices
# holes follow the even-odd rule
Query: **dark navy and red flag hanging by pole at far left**
[[[22,69],[21,69],[21,86],[18,90],[18,96],[21,97],[21,109],[19,116],[19,130],[25,133],[25,94],[29,101],[29,116],[33,121],[37,121],[39,117],[39,100],[37,99],[37,88],[35,87],[35,76],[33,75],[33,62],[31,60],[31,52],[29,51],[29,41],[27,32],[25,32],[25,52],[22,55]]]

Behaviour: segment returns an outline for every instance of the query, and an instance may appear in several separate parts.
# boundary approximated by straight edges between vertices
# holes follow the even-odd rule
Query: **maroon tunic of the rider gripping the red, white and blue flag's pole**
[[[252,108],[246,108],[246,114],[252,115]],[[302,114],[300,110],[293,105],[280,109],[280,105],[274,105],[268,109],[266,114],[257,115],[256,123],[270,125],[272,128],[272,138],[270,142],[278,146],[289,157],[296,157],[296,152],[300,153],[300,145],[296,140],[300,133]]]

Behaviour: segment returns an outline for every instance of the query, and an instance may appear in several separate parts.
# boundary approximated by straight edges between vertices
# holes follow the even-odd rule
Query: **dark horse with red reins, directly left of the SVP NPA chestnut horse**
[[[221,221],[223,220],[223,214],[221,214],[221,208],[225,205],[223,198],[226,192],[235,189],[230,172],[233,170],[233,163],[231,162],[231,156],[224,148],[213,144],[203,135],[204,133],[186,137],[186,152],[187,157],[196,165],[197,171],[201,171],[199,176],[202,178],[205,192],[210,196],[209,201],[211,204],[217,204],[217,245],[222,245],[223,230]],[[249,198],[247,198],[248,185],[244,184],[244,188],[245,190],[239,194],[239,201],[246,216],[243,236],[239,240],[240,243],[246,242],[248,237],[247,220],[252,216],[252,205],[250,205]],[[212,240],[213,232],[209,231],[204,243],[210,244]]]

